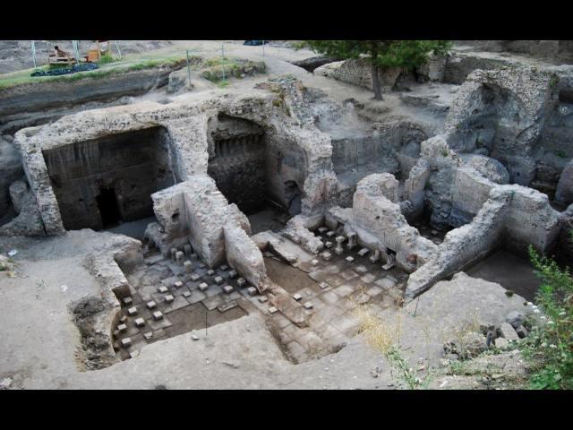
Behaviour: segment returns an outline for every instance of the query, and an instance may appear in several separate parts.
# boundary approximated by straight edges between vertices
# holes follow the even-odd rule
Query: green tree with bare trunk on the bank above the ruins
[[[378,71],[381,67],[403,67],[413,70],[428,61],[431,52],[445,55],[451,47],[448,40],[305,40],[304,45],[327,56],[342,59],[365,59],[372,64],[374,99],[382,99]]]

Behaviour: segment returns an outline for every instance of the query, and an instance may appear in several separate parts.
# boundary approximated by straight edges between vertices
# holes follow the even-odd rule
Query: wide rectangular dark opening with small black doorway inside
[[[175,184],[162,126],[44,150],[67,230],[113,227],[153,216],[151,194]]]

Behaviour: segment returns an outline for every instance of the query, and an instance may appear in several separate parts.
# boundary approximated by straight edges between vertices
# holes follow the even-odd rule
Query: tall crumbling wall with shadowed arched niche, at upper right
[[[559,77],[535,68],[476,70],[458,90],[444,138],[458,152],[498,159],[510,181],[530,185],[543,159],[538,142],[558,99]]]

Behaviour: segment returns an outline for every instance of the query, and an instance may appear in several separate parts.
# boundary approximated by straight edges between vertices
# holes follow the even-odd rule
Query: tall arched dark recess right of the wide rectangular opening
[[[208,174],[252,231],[275,229],[301,211],[307,160],[296,142],[261,125],[219,114],[209,122]]]

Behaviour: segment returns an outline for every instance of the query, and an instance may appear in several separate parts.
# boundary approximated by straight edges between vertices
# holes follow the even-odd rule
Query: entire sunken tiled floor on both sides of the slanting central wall
[[[326,232],[317,232],[317,236],[325,243],[330,241]],[[341,255],[332,252],[328,262],[317,257],[316,265],[306,264],[302,268],[264,253],[269,278],[286,290],[292,305],[297,305],[295,297],[300,296],[298,303],[311,307],[306,311],[310,315],[308,326],[299,327],[281,312],[270,314],[269,297],[249,289],[246,282],[239,286],[238,275],[231,277],[232,270],[227,265],[210,271],[196,254],[191,254],[185,256],[192,263],[191,271],[187,271],[184,265],[164,258],[153,249],[146,255],[145,266],[126,274],[135,292],[131,301],[122,303],[122,317],[112,330],[115,352],[122,359],[136,357],[149,343],[189,331],[208,333],[218,323],[252,313],[266,318],[269,330],[294,363],[336,352],[359,332],[356,305],[369,303],[375,312],[381,312],[397,306],[405,288],[405,272],[396,267],[384,271],[382,262],[372,263],[369,255],[361,256],[359,250],[359,247],[345,249]],[[354,262],[346,261],[349,256]],[[217,283],[217,277],[222,281]],[[175,284],[177,281],[181,284]],[[208,288],[201,291],[203,282]],[[233,288],[229,293],[224,291],[227,285]],[[173,301],[168,303],[167,296],[172,296]],[[155,306],[150,309],[151,301]],[[129,309],[133,308],[135,313],[132,310],[130,314]],[[161,313],[160,319],[154,317],[155,312]],[[138,327],[135,322],[140,318],[144,323]],[[122,344],[126,338],[130,340],[129,346]]]

